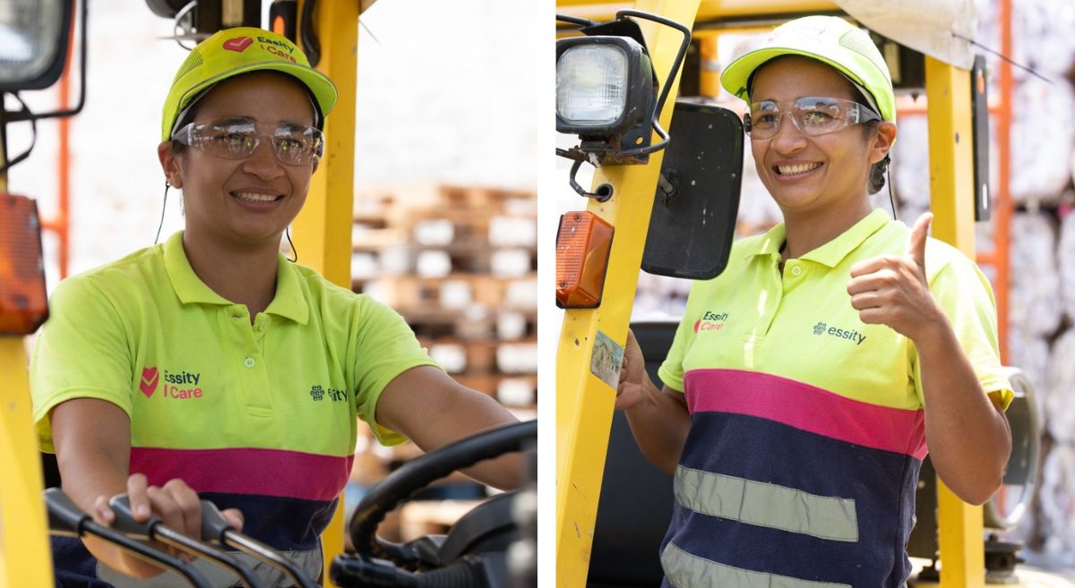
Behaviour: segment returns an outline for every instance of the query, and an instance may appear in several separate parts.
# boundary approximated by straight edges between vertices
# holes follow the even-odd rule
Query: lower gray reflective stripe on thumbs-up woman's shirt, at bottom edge
[[[811,582],[732,568],[698,557],[669,543],[661,554],[664,577],[675,588],[851,588],[849,584]]]

